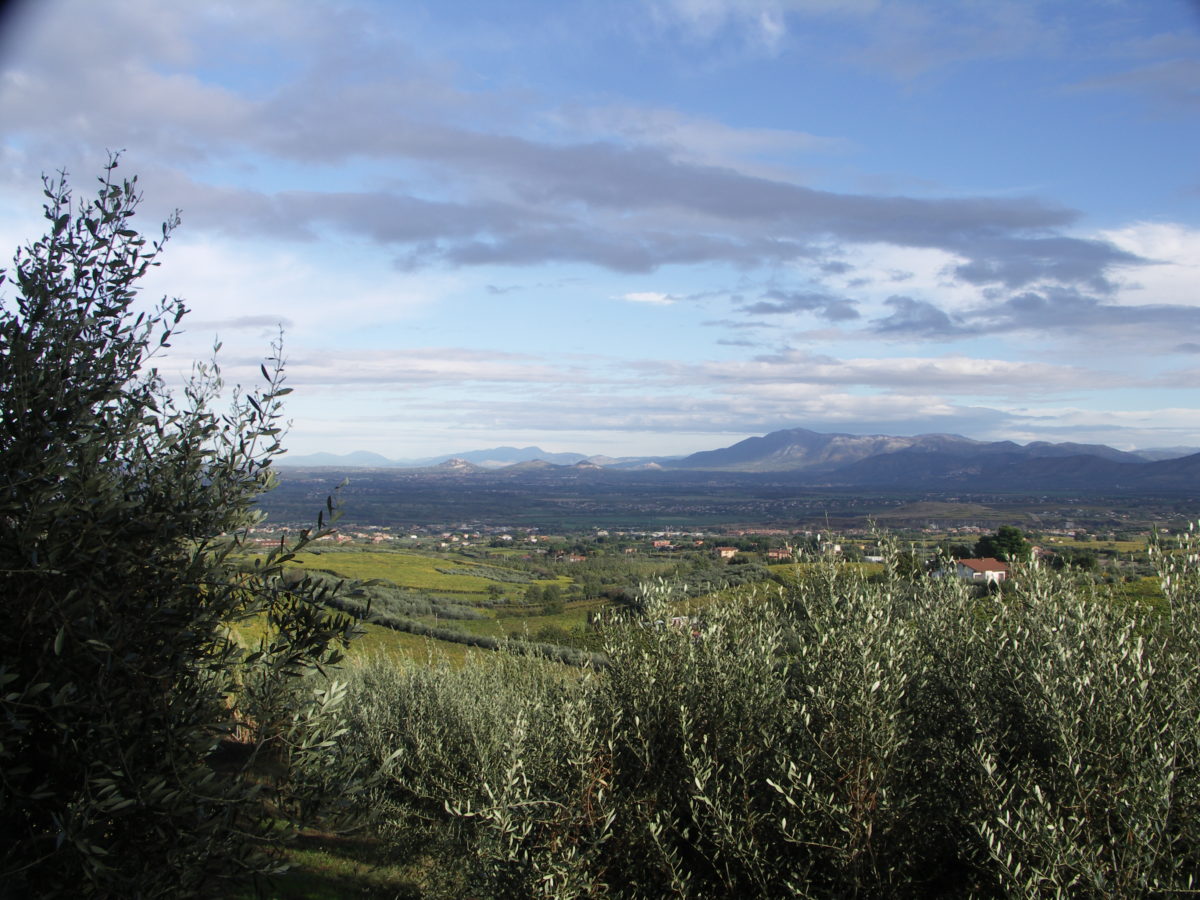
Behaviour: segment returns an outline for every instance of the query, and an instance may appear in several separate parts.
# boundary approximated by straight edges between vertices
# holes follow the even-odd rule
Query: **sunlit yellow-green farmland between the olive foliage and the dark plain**
[[[695,608],[707,596],[738,586],[794,584],[810,564],[797,563],[796,554],[812,560],[834,550],[865,577],[882,577],[882,564],[870,562],[880,552],[880,540],[896,541],[906,559],[929,570],[938,554],[955,548],[961,553],[974,538],[961,529],[889,534],[851,535],[818,551],[820,539],[812,533],[782,529],[679,533],[670,540],[658,533],[602,529],[518,534],[520,540],[505,534],[502,540],[485,529],[382,541],[384,535],[392,538],[384,529],[370,538],[341,536],[341,542],[314,545],[320,548],[299,553],[290,565],[296,577],[307,574],[340,583],[349,604],[343,608],[367,617],[366,634],[353,653],[383,650],[418,660],[444,653],[461,661],[479,648],[528,652],[536,644],[563,654],[596,652],[600,638],[590,623],[605,611],[636,607],[642,586],[660,578],[676,582],[680,598],[690,598]],[[1120,596],[1153,602],[1159,595],[1145,534],[1123,533],[1121,540],[1082,532],[1034,536],[1046,560],[1086,563],[1090,577]],[[720,558],[716,546],[733,550],[734,556]]]

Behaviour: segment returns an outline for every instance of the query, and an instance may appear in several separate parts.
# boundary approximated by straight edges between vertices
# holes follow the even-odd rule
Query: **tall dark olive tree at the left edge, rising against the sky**
[[[136,296],[178,218],[144,238],[116,166],[78,204],[46,180],[48,232],[0,304],[2,896],[208,896],[270,869],[246,760],[322,751],[331,703],[294,685],[352,631],[281,582],[296,547],[235,562],[281,451],[282,367],[223,413],[215,366],[168,390],[152,359],[184,305]],[[246,649],[230,628],[252,617]],[[244,694],[257,743],[218,766]]]

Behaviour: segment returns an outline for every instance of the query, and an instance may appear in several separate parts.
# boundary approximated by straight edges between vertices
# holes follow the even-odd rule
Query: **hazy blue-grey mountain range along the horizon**
[[[425,460],[378,454],[283,457],[306,467],[406,467],[443,473],[504,474],[659,470],[772,474],[832,487],[924,490],[1200,490],[1196,448],[1122,451],[1103,444],[983,442],[959,434],[844,434],[787,428],[731,446],[683,457],[611,457],[551,454],[536,446],[500,446]]]

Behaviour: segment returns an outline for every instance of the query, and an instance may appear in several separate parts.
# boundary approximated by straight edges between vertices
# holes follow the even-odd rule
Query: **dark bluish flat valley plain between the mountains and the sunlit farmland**
[[[344,481],[344,485],[338,488]],[[925,528],[1012,522],[1121,530],[1186,521],[1183,491],[932,491],[814,487],[778,474],[504,469],[286,469],[260,500],[275,524],[304,526],[337,491],[344,522],[397,530],[458,526],[550,530],[752,527]]]

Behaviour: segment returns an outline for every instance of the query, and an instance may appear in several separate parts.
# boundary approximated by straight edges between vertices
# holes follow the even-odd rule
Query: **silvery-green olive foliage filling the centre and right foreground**
[[[1146,607],[1034,563],[980,593],[896,548],[682,625],[684,586],[653,584],[604,670],[352,667],[326,774],[382,773],[365,805],[437,847],[446,895],[1187,895],[1198,547],[1156,547]]]

